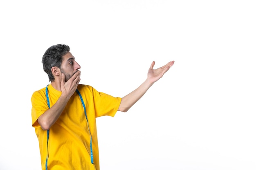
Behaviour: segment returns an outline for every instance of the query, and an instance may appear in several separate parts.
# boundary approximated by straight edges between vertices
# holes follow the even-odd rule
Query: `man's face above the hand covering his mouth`
[[[65,82],[67,82],[81,66],[75,61],[75,57],[70,52],[67,52],[62,58],[61,73],[65,74]]]

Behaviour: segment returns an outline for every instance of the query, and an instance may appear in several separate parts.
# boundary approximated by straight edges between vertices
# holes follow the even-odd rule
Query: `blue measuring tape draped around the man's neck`
[[[47,99],[47,105],[48,107],[50,108],[50,102],[49,102],[49,95],[48,95],[48,85],[46,86],[45,88],[45,91],[46,91],[46,99]],[[83,109],[84,109],[84,113],[85,113],[85,118],[86,118],[86,121],[87,121],[87,124],[88,124],[88,130],[89,130],[89,133],[90,133],[90,151],[91,151],[91,163],[93,163],[93,153],[92,153],[92,135],[91,135],[91,132],[90,132],[90,127],[89,127],[89,121],[87,119],[87,115],[86,115],[86,109],[85,109],[85,104],[83,102],[83,97],[82,95],[80,94],[80,92],[76,89],[76,93],[78,93],[80,99],[81,99],[81,102],[83,104]],[[45,170],[47,170],[47,162],[48,162],[48,141],[49,141],[49,130],[47,130],[47,157],[46,157],[46,161],[45,161]]]

